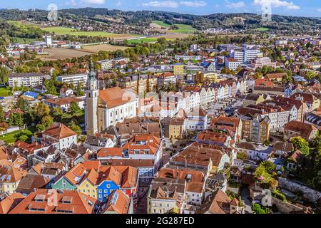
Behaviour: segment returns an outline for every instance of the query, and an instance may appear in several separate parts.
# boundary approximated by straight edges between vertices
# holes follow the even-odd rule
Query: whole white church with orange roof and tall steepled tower
[[[137,115],[138,96],[132,88],[98,90],[98,80],[91,62],[86,85],[85,124],[87,135],[96,135],[125,118]]]

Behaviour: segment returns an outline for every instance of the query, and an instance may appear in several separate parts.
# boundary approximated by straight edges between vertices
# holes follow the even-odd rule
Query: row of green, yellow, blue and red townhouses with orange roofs
[[[136,203],[138,171],[131,166],[101,165],[99,160],[86,161],[56,178],[51,187],[54,190],[77,190],[99,201],[115,190],[121,190]]]

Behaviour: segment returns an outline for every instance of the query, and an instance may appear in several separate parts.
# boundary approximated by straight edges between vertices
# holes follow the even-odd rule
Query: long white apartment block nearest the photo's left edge
[[[10,87],[35,87],[42,85],[44,76],[41,73],[11,73],[9,75]]]

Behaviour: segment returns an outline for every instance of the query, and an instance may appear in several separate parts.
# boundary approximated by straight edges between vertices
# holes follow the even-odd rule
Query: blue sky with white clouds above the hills
[[[47,9],[49,4],[56,4],[58,9],[91,6],[198,15],[241,12],[262,14],[271,11],[279,15],[321,17],[320,0],[14,0],[0,1],[0,9]]]

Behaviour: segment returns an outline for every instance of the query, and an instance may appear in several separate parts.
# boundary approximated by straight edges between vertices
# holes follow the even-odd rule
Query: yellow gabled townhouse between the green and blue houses
[[[91,170],[83,181],[79,183],[77,190],[78,192],[82,192],[83,194],[97,199],[97,182],[98,172],[96,170]]]

